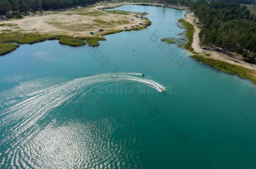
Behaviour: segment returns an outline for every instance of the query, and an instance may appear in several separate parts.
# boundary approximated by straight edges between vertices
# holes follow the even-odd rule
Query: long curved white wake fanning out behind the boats
[[[16,164],[23,168],[26,162],[20,162],[19,152],[28,139],[46,126],[52,118],[74,99],[94,88],[95,85],[107,85],[111,83],[142,83],[146,86],[164,88],[159,83],[150,79],[131,76],[141,73],[105,73],[95,76],[78,78],[33,96],[0,112],[1,141],[0,146],[6,147],[5,154],[0,157],[0,166]],[[85,90],[81,90],[86,85]]]

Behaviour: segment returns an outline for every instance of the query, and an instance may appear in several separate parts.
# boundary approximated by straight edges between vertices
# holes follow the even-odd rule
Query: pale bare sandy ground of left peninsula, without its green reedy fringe
[[[118,5],[124,4],[109,4],[109,7]],[[107,13],[106,10],[98,10],[98,8],[104,8],[104,5],[96,5],[88,9],[67,10],[64,12],[44,11],[43,15],[26,16],[20,20],[0,21],[0,23],[12,24],[12,26],[0,27],[0,31],[20,30],[25,33],[65,34],[74,37],[92,36],[90,34],[92,31],[97,36],[102,35],[102,32],[98,31],[100,28],[103,28],[104,32],[124,30],[123,27],[125,26],[131,28],[131,25],[139,25],[139,23],[146,22],[146,20],[141,20],[140,17],[135,18],[133,12],[130,15],[111,14]],[[95,13],[97,14],[95,15]]]

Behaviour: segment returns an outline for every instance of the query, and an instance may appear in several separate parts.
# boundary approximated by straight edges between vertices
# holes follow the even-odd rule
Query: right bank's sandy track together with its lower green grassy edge
[[[256,84],[256,65],[246,63],[242,60],[241,56],[236,56],[235,53],[229,52],[229,54],[218,53],[214,48],[207,47],[208,50],[203,50],[200,46],[199,32],[200,29],[196,24],[198,22],[197,18],[191,12],[187,12],[184,19],[188,24],[193,25],[193,40],[190,44],[193,48],[193,53],[191,58],[196,59],[202,63],[208,64],[214,68],[217,68],[226,73],[232,73],[240,76],[241,78],[248,78],[254,84]],[[184,25],[185,26],[185,25]],[[190,39],[187,36],[188,39]],[[204,45],[202,45],[204,47]],[[187,48],[186,48],[187,49]],[[187,49],[188,50],[188,49]],[[191,50],[188,50],[191,51]],[[235,57],[236,56],[236,57]]]

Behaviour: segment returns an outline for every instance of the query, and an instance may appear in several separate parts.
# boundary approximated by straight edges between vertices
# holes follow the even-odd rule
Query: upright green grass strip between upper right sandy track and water
[[[182,23],[182,25],[186,29],[186,37],[188,38],[188,42],[185,44],[184,48],[192,52],[194,50],[191,46],[193,42],[194,27],[192,24],[188,23],[184,19],[178,20],[178,23]]]

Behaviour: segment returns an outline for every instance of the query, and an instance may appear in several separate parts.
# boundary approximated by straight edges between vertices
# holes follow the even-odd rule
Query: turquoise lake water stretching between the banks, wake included
[[[117,9],[152,25],[95,48],[52,40],[0,57],[0,167],[256,168],[255,85],[161,43],[184,31],[185,11]]]

